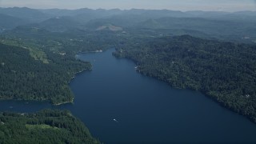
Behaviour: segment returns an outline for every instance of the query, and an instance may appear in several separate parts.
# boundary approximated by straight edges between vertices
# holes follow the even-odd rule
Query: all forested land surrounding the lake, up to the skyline
[[[92,70],[75,55],[116,48],[141,74],[201,91],[256,122],[255,15],[0,8],[0,99],[73,102],[70,80]],[[0,112],[0,143],[99,142],[69,111],[42,110]]]

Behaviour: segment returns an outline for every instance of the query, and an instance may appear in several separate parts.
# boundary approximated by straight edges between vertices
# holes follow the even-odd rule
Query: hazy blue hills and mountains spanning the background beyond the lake
[[[256,12],[177,10],[34,10],[0,8],[0,32],[26,26],[65,32],[70,30],[151,30],[166,35],[190,34],[226,40],[256,38]],[[18,29],[15,29],[18,30]],[[250,40],[251,42],[251,40]]]

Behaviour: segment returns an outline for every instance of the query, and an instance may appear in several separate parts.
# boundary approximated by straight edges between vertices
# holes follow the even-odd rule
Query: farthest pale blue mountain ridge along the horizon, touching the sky
[[[0,8],[0,14],[6,14],[16,18],[22,18],[29,22],[42,22],[48,18],[70,16],[78,18],[81,21],[90,21],[98,18],[110,18],[117,15],[139,15],[146,18],[241,18],[241,16],[254,17],[255,11],[238,11],[234,13],[222,11],[177,11],[177,10],[91,10],[91,9],[78,9],[78,10],[65,10],[65,9],[48,9],[48,10],[35,10],[27,7],[13,7],[13,8]]]

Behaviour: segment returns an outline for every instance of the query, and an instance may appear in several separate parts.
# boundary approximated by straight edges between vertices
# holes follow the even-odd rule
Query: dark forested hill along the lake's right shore
[[[184,35],[124,42],[117,50],[114,55],[134,60],[140,73],[200,90],[256,122],[256,46]]]

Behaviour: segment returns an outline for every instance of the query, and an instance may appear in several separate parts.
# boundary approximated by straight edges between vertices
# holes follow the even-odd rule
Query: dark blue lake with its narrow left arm
[[[196,91],[138,74],[133,62],[112,52],[77,55],[93,70],[70,83],[74,104],[2,101],[0,110],[68,109],[105,143],[256,142],[256,124]]]

